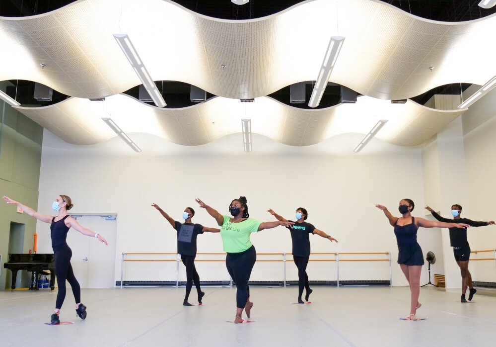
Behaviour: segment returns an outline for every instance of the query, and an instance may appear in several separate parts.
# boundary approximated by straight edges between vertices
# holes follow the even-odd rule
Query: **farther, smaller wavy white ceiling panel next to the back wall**
[[[377,138],[415,146],[436,134],[465,110],[440,111],[413,101],[391,104],[361,96],[355,104],[304,110],[269,97],[255,102],[215,97],[195,106],[171,110],[119,94],[105,101],[72,97],[45,107],[16,107],[66,142],[89,145],[114,136],[102,117],[111,117],[124,132],[149,133],[179,145],[202,145],[241,132],[241,119],[252,120],[252,132],[291,146],[308,146],[344,133],[366,134],[379,119],[389,121]],[[131,136],[132,137],[132,136]]]

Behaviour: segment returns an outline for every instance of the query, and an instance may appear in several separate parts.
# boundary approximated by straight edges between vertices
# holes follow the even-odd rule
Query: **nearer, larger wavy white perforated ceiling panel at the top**
[[[80,0],[42,15],[0,18],[0,45],[8,52],[0,56],[0,80],[36,81],[82,98],[123,92],[140,81],[112,36],[119,32],[129,34],[155,81],[234,99],[315,80],[332,35],[346,40],[331,81],[377,98],[456,82],[483,85],[496,75],[495,15],[445,23],[375,0],[309,0],[234,21],[167,0]]]

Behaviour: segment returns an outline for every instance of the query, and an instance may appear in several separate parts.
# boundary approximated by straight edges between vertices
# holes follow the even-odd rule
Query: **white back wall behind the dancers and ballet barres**
[[[199,147],[176,146],[131,134],[143,149],[138,154],[120,139],[79,147],[46,131],[38,208],[50,214],[54,198],[68,194],[73,199],[73,213],[117,213],[116,279],[120,279],[122,252],[176,251],[175,232],[150,207],[152,202],[176,219],[191,206],[197,212],[193,221],[205,226],[214,226],[215,222],[206,211],[196,208],[196,197],[227,213],[230,201],[245,195],[251,216],[262,221],[273,218],[266,212],[268,208],[292,218],[297,207],[305,207],[308,222],[339,240],[336,245],[313,236],[313,252],[390,251],[393,283],[406,285],[396,264],[393,228],[374,204],[386,205],[398,214],[399,200],[408,197],[417,204],[414,215],[424,216],[421,150],[374,140],[355,154],[353,148],[362,136],[342,135],[315,146],[290,147],[255,134],[253,152],[244,153],[241,134]],[[40,223],[38,227],[40,252],[49,252],[49,233],[42,232],[49,226]],[[437,238],[431,230],[419,232],[425,252]],[[281,227],[253,234],[252,242],[260,253],[291,251],[288,232]],[[222,252],[219,235],[200,236],[198,249]],[[389,278],[387,262],[343,262],[341,266],[342,279]],[[295,266],[288,263],[287,269],[287,279],[296,279]],[[199,271],[202,280],[228,279],[222,262],[199,263]],[[308,273],[311,279],[332,280],[335,264],[313,262]],[[423,276],[422,281],[427,281],[426,273]],[[175,266],[134,263],[127,265],[125,278],[175,279]],[[254,280],[282,278],[280,263],[259,262],[252,275]]]

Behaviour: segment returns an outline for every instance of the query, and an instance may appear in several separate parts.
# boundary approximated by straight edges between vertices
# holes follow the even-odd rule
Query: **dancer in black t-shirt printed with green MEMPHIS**
[[[267,210],[270,214],[277,218],[278,221],[287,222],[288,220],[281,215],[274,212],[274,210]],[[292,255],[293,261],[298,268],[298,303],[303,304],[301,300],[301,295],[303,294],[303,288],[306,289],[305,301],[308,301],[312,289],[308,285],[308,275],[306,273],[306,266],[308,265],[308,259],[310,258],[310,234],[317,234],[323,238],[329,239],[331,242],[338,240],[332,238],[331,236],[324,233],[322,230],[315,228],[312,224],[305,222],[308,217],[308,212],[303,207],[298,207],[296,209],[296,222],[294,225],[286,227],[291,232],[291,242],[293,245]],[[289,221],[292,222],[292,221]]]

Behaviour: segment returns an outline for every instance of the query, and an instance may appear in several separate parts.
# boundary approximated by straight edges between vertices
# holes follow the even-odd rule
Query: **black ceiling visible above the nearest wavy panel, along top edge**
[[[46,13],[75,0],[0,0],[0,16],[25,17]],[[192,11],[222,19],[250,19],[280,12],[302,0],[250,0],[235,5],[230,0],[173,0]],[[351,1],[351,0],[349,0]],[[480,0],[383,0],[423,18],[459,22],[482,18],[496,12],[479,7]]]

